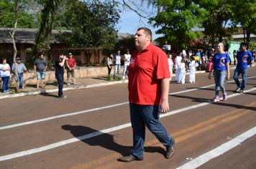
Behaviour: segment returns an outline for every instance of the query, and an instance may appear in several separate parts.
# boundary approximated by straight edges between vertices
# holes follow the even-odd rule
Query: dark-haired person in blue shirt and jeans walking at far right
[[[237,67],[234,69],[234,81],[237,84],[236,92],[243,93],[246,84],[248,65],[252,64],[252,53],[247,51],[247,44],[240,45],[240,50],[237,52]],[[242,84],[239,82],[238,77],[242,74]]]

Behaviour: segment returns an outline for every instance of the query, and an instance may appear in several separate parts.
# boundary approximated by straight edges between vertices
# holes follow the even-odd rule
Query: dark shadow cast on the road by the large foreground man
[[[131,146],[124,146],[119,145],[118,143],[115,143],[114,141],[114,135],[109,135],[108,133],[100,133],[100,135],[97,136],[91,136],[92,133],[98,133],[98,130],[94,130],[90,127],[85,127],[81,125],[63,125],[63,130],[69,130],[70,133],[81,140],[83,143],[86,143],[91,146],[101,146],[102,148],[106,148],[108,150],[114,150],[117,153],[120,153],[121,155],[129,155],[130,150],[132,149]],[[88,136],[88,138],[86,138]],[[115,135],[115,137],[118,139],[120,135]],[[165,150],[159,146],[157,147],[145,147],[145,152],[147,153],[160,153],[165,155]]]

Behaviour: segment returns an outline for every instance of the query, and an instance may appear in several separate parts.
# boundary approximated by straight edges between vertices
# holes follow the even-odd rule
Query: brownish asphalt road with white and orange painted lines
[[[195,84],[170,84],[170,112],[160,118],[175,139],[170,159],[147,130],[144,160],[117,161],[132,146],[127,83],[69,90],[63,100],[3,99],[0,168],[256,168],[255,72],[250,67],[244,94],[226,81],[227,100],[216,103],[208,73],[196,74]]]

